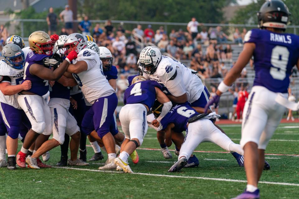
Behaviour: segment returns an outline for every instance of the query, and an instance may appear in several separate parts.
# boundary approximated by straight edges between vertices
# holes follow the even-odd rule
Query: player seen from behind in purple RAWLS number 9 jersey
[[[292,67],[299,68],[299,37],[284,33],[289,21],[287,6],[278,0],[265,2],[258,12],[259,29],[247,32],[243,51],[235,65],[219,84],[207,104],[218,104],[222,93],[240,76],[254,56],[255,79],[245,103],[240,145],[244,149],[246,190],[235,197],[259,198],[258,182],[263,172],[264,152],[286,108],[278,104],[278,95],[287,98]]]

